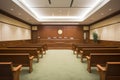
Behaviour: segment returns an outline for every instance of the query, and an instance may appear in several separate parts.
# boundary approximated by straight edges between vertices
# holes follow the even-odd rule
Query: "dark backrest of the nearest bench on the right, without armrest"
[[[120,62],[107,62],[106,80],[120,80]]]

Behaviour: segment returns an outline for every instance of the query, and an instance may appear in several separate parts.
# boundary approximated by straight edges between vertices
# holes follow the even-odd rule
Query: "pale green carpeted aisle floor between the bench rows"
[[[88,73],[86,67],[71,50],[48,50],[39,63],[33,62],[32,73],[22,69],[20,80],[99,80],[96,69]]]

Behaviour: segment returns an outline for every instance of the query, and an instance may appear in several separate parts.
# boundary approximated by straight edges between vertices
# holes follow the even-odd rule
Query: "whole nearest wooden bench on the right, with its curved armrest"
[[[120,62],[107,62],[106,66],[97,64],[100,80],[120,80]]]

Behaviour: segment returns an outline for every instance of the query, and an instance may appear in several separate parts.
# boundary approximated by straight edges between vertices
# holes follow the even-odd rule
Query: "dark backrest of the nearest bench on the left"
[[[0,62],[0,80],[13,80],[12,62]]]

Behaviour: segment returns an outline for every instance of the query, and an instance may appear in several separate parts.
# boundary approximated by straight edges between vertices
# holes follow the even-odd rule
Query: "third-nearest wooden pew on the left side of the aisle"
[[[30,56],[34,56],[37,62],[39,62],[39,53],[36,48],[0,48],[0,54],[1,53],[29,53]]]

